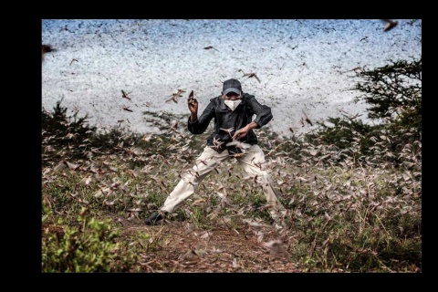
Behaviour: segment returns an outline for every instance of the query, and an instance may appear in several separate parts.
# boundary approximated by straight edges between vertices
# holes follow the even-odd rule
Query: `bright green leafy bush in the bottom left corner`
[[[45,235],[42,246],[42,272],[123,272],[136,263],[136,256],[120,252],[120,243],[110,219],[103,221],[79,216],[80,227],[65,225],[61,232]]]

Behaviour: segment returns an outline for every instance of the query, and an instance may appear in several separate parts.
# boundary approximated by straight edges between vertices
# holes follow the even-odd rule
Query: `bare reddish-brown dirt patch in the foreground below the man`
[[[286,235],[269,224],[250,222],[236,230],[218,224],[197,230],[188,222],[166,220],[148,226],[122,222],[122,236],[149,235],[141,270],[151,273],[295,273],[302,272],[287,253]]]

